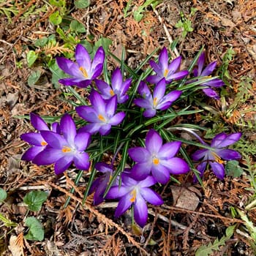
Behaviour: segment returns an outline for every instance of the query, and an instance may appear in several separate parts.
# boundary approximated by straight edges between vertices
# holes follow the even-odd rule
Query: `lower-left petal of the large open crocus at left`
[[[56,148],[45,148],[45,150],[34,157],[32,162],[36,165],[51,165],[62,157],[64,157],[64,153],[61,150]]]

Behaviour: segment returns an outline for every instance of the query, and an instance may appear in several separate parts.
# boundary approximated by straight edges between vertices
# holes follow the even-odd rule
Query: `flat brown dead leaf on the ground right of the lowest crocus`
[[[173,194],[173,202],[175,206],[195,211],[199,203],[199,198],[194,192],[185,187],[170,186],[170,189]]]

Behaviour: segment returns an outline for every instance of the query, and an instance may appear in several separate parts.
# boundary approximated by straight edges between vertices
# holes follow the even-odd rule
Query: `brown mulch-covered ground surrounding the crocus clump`
[[[14,1],[7,2],[14,4]],[[181,68],[189,65],[203,45],[207,62],[217,61],[218,67],[227,50],[232,48],[236,54],[227,68],[230,79],[225,102],[208,100],[208,104],[221,112],[233,103],[241,80],[251,78],[254,81],[252,90],[248,91],[251,96],[244,105],[236,108],[233,118],[223,116],[230,131],[241,131],[242,128],[236,126],[239,113],[255,108],[256,2],[164,0],[154,10],[147,7],[140,22],[134,20],[133,12],[144,1],[132,1],[124,17],[127,2],[91,1],[89,8],[80,10],[72,8],[71,2],[67,6],[72,9],[72,18],[86,26],[84,39],[89,35],[91,42],[97,42],[101,37],[112,39],[110,50],[119,57],[124,45],[125,60],[132,68],[138,67],[154,49],[170,47],[174,40],[178,43],[172,56],[182,56]],[[20,161],[29,147],[20,135],[31,131],[29,120],[23,116],[31,112],[61,116],[71,110],[71,106],[63,100],[64,89],[52,85],[51,72],[44,64],[28,67],[26,62],[26,53],[33,49],[36,39],[56,33],[56,28],[49,22],[49,15],[54,10],[48,8],[48,11],[24,17],[31,5],[37,10],[45,5],[45,1],[17,0],[15,4],[19,7],[18,14],[11,15],[11,20],[1,12],[4,2],[0,4],[0,187],[8,193],[6,203],[0,203],[0,213],[18,223],[18,227],[11,230],[1,223],[1,255],[195,255],[200,246],[225,236],[230,225],[243,225],[239,217],[232,217],[230,208],[244,210],[253,195],[247,173],[238,178],[227,176],[224,181],[219,181],[211,172],[206,172],[203,179],[205,189],[200,184],[192,184],[189,175],[178,177],[181,187],[187,192],[184,201],[180,202],[185,206],[183,208],[177,206],[177,198],[183,190],[173,200],[174,192],[170,187],[176,185],[173,181],[165,187],[158,187],[165,204],[148,207],[148,224],[140,230],[132,227],[129,212],[116,219],[113,218],[115,208],[110,203],[92,206],[92,195],[81,206],[88,174],[83,175],[76,187],[75,169],[56,176],[52,166],[38,167]],[[197,9],[194,15],[191,14],[192,8]],[[176,28],[181,12],[191,20],[193,29],[184,38],[182,29]],[[113,67],[116,65],[110,57],[108,61]],[[39,83],[29,86],[27,80],[35,69],[42,72],[41,78]],[[81,89],[77,91],[85,94]],[[252,120],[255,113],[245,113],[243,118]],[[252,129],[246,130],[244,136],[249,141],[255,140]],[[74,194],[69,193],[72,187],[75,187]],[[40,219],[45,229],[45,239],[41,242],[23,239],[27,232],[23,222],[27,214],[23,197],[31,190],[45,190],[49,194],[41,211],[29,212],[29,216]],[[71,196],[69,206],[63,208],[68,195]],[[191,197],[195,198],[195,203],[189,208],[186,198],[191,200]],[[256,211],[249,211],[248,216],[256,225]],[[19,239],[13,243],[12,236]],[[245,231],[234,233],[214,254],[255,255],[248,236]]]

